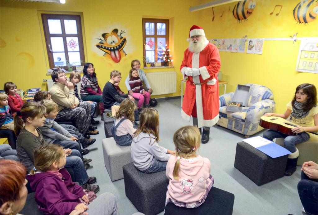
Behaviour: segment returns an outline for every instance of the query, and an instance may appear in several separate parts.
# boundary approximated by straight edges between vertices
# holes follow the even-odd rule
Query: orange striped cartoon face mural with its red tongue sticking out
[[[121,36],[123,33],[125,33],[125,31],[121,31],[120,34],[118,34],[117,28],[112,30],[111,33],[103,33],[101,36],[104,39],[99,38],[100,42],[95,45],[105,52],[104,56],[107,59],[112,59],[115,63],[120,62],[121,57],[127,55],[123,50],[127,43],[126,37]]]

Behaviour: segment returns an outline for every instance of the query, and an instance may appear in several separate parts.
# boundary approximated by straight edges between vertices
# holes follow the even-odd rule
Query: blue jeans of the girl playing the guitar
[[[294,153],[296,151],[295,144],[303,143],[309,140],[310,136],[306,132],[301,132],[298,135],[292,136],[283,134],[279,131],[268,130],[263,133],[263,138],[273,141],[275,138],[285,138],[284,145],[287,150]]]

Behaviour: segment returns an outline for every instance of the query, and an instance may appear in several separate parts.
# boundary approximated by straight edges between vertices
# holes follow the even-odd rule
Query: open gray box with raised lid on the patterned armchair
[[[227,104],[226,110],[228,112],[242,112],[243,107],[248,104],[250,95],[250,86],[238,84],[234,92],[233,100]]]

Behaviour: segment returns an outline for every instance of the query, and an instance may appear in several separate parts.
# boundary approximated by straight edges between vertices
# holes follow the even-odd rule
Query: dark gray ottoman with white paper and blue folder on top
[[[271,158],[250,144],[239,142],[234,167],[260,186],[284,176],[287,157]]]

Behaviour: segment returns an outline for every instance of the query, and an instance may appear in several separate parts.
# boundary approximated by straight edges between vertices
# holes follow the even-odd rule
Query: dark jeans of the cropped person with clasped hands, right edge
[[[299,198],[307,214],[318,214],[318,180],[310,179],[302,171],[297,185]]]

